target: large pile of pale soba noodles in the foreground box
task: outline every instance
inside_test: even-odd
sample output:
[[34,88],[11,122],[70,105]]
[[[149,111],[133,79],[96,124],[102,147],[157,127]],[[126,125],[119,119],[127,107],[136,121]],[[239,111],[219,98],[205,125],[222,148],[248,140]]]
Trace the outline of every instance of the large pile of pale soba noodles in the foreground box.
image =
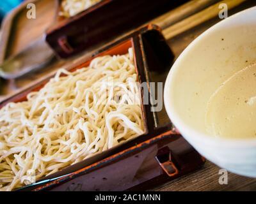
[[130,48],[129,54],[97,57],[72,73],[60,69],[28,101],[4,106],[0,191],[28,185],[143,134],[136,82]]

